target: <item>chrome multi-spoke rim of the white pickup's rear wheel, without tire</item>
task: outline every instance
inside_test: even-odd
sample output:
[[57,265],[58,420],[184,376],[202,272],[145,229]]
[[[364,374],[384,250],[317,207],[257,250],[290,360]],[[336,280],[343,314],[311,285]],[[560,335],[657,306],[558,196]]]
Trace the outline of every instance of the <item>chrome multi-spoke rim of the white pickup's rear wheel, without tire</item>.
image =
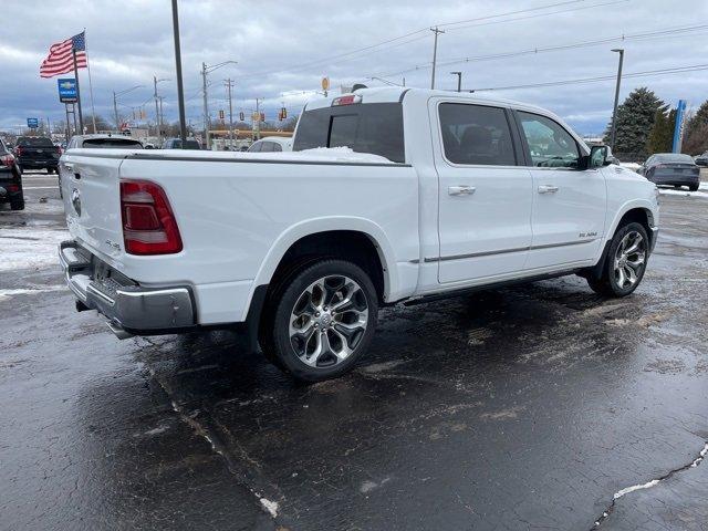
[[290,343],[311,367],[332,367],[360,344],[368,324],[368,302],[354,280],[332,274],[310,284],[290,314]]

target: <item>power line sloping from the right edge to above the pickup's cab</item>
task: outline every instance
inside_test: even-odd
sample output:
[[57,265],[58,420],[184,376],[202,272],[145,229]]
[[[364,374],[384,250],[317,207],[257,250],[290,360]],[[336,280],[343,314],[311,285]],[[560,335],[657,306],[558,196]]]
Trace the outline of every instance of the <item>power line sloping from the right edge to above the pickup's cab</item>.
[[[657,31],[649,31],[649,32],[642,32],[642,33],[633,33],[633,34],[623,34],[623,35],[618,35],[618,37],[610,37],[606,39],[596,39],[596,40],[592,40],[592,41],[581,41],[581,42],[575,42],[575,43],[571,43],[571,44],[561,44],[561,45],[555,45],[555,46],[542,46],[542,48],[532,48],[532,49],[525,49],[525,50],[518,50],[518,51],[513,51],[513,52],[504,52],[504,53],[494,53],[494,54],[490,54],[490,55],[476,55],[476,56],[469,56],[469,58],[459,58],[459,59],[452,59],[449,61],[442,61],[439,63],[440,66],[449,66],[452,64],[460,64],[460,63],[472,63],[472,62],[480,62],[480,61],[493,61],[493,60],[499,60],[499,59],[509,59],[509,58],[517,58],[517,56],[521,56],[521,55],[537,55],[539,53],[548,53],[548,52],[558,52],[558,51],[564,51],[564,50],[573,50],[573,49],[577,49],[577,48],[589,48],[589,46],[596,46],[596,45],[601,45],[601,44],[608,44],[611,42],[624,42],[624,41],[631,41],[631,40],[645,40],[645,39],[656,39],[656,38],[664,38],[664,37],[675,37],[677,34],[683,34],[683,33],[687,33],[687,32],[694,32],[694,31],[699,31],[699,30],[706,30],[708,29],[708,24],[698,24],[698,25],[689,25],[689,27],[679,27],[679,28],[671,28],[671,29],[666,29],[666,30],[657,30]],[[400,75],[400,74],[406,74],[408,72],[415,72],[418,70],[425,70],[425,69],[429,69],[430,67],[430,63],[423,63],[423,64],[418,64],[415,66],[412,66],[409,69],[406,70],[402,70],[402,71],[397,71],[397,72],[389,72],[386,74],[376,74],[377,76],[381,77],[392,77],[395,75]]]

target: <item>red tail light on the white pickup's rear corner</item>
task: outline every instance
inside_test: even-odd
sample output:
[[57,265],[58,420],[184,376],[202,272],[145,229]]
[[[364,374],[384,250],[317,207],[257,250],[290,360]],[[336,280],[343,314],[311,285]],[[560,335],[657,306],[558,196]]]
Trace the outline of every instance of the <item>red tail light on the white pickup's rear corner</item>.
[[177,220],[165,190],[147,180],[121,181],[123,241],[129,254],[181,251]]

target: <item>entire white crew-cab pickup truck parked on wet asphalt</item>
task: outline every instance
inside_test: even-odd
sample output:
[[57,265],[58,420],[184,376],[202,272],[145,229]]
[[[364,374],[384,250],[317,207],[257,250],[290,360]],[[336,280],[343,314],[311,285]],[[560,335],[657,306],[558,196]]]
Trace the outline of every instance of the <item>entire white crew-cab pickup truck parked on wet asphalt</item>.
[[396,302],[564,274],[632,293],[658,196],[605,155],[535,106],[362,88],[309,103],[293,153],[66,152],[60,260],[119,337],[242,325],[320,381]]

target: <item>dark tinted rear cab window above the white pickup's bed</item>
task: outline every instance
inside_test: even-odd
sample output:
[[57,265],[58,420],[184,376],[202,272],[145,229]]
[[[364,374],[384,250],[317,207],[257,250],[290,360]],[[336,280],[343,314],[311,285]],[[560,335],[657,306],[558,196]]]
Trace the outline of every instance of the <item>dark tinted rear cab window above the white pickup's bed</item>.
[[403,105],[357,103],[305,111],[292,150],[317,147],[348,147],[405,163]]

